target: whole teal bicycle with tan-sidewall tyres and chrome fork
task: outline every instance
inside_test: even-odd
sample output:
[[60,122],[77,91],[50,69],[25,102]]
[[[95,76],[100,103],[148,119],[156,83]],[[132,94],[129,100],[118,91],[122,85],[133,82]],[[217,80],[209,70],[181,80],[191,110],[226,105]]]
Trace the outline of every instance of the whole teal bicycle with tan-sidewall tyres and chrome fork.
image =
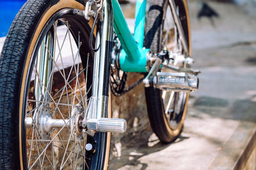
[[146,0],[136,2],[133,35],[117,0],[22,6],[0,58],[2,168],[107,169],[110,132],[126,130],[111,118],[109,89],[120,96],[142,81],[125,89],[127,72],[147,74],[158,138],[177,138],[198,89],[187,3],[152,0],[145,20]]

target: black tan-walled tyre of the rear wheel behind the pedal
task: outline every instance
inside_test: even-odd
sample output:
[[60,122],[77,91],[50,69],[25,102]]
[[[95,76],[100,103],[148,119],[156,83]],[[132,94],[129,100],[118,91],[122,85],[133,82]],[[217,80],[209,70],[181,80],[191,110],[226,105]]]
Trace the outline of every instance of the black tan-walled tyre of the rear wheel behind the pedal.
[[[179,5],[184,6],[184,8],[186,7],[186,4],[184,4],[183,1],[175,1],[175,3],[176,5],[179,3]],[[154,53],[160,52],[161,50],[161,30],[163,27],[164,10],[166,10],[167,5],[168,1],[166,0],[153,0],[151,1],[151,5],[148,10],[147,25],[145,31],[145,47],[150,48],[150,51]],[[188,17],[188,13],[186,13],[186,17]],[[186,39],[190,45],[189,18],[186,20],[186,22],[182,22],[182,27],[184,28]],[[148,118],[150,120],[152,130],[162,142],[170,143],[177,139],[180,132],[182,131],[184,122],[182,122],[182,125],[178,127],[178,131],[177,129],[173,130],[169,127],[169,125],[166,123],[168,120],[166,120],[164,115],[164,107],[160,95],[161,90],[159,89],[155,89],[154,87],[145,88]],[[183,117],[186,116],[188,95],[189,94],[187,94],[187,99],[184,103],[184,113],[182,113]]]

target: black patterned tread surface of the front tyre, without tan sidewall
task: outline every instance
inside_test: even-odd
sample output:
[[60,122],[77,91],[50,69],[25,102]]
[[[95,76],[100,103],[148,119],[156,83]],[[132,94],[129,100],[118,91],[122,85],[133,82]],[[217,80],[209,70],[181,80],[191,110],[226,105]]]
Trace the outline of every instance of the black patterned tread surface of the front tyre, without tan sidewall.
[[0,57],[0,167],[20,169],[19,89],[22,69],[37,21],[46,0],[27,1],[13,20]]

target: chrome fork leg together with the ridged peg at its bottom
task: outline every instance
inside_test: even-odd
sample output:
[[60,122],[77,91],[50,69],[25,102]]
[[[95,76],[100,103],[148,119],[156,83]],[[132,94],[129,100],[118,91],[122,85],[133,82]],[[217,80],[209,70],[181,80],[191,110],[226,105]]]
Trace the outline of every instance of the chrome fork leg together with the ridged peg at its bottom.
[[[89,132],[125,132],[126,120],[108,117],[109,74],[111,64],[113,9],[111,0],[104,0],[102,8],[102,27],[97,32],[95,45],[99,48],[95,52],[93,67],[92,97],[90,98],[83,128]],[[101,32],[101,34],[100,34]]]

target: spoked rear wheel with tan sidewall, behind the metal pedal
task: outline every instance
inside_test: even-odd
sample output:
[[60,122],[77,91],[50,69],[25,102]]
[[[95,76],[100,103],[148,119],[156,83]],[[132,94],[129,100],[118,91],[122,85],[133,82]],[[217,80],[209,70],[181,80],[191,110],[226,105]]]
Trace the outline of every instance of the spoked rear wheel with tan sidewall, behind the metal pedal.
[[[175,1],[175,5],[190,51],[189,16],[186,0]],[[183,53],[168,0],[153,0],[150,5],[145,46],[154,53],[160,52],[164,47],[167,48],[168,52]],[[162,68],[160,71],[166,72],[168,70]],[[174,141],[182,131],[189,93],[170,92],[147,87],[145,88],[145,96],[148,117],[154,133],[163,142]]]

